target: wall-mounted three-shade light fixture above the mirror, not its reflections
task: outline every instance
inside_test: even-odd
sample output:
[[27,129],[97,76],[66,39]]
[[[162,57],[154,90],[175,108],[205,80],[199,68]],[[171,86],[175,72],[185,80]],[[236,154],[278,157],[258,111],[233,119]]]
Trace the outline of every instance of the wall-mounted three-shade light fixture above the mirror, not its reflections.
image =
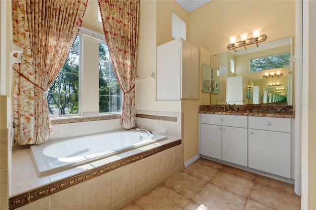
[[229,37],[230,43],[228,44],[227,48],[228,49],[233,49],[236,52],[236,49],[239,47],[244,47],[247,49],[247,45],[250,44],[256,44],[257,47],[259,46],[258,42],[264,41],[267,38],[267,35],[260,35],[261,29],[255,29],[252,31],[253,37],[247,38],[248,37],[248,32],[240,34],[240,41],[236,42],[236,35],[233,35]]

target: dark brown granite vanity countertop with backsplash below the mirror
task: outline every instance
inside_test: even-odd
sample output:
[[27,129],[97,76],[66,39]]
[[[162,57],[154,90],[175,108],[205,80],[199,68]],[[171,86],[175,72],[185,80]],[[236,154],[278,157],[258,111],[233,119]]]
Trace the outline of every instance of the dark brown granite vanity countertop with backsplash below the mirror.
[[292,105],[199,105],[199,113],[295,118]]

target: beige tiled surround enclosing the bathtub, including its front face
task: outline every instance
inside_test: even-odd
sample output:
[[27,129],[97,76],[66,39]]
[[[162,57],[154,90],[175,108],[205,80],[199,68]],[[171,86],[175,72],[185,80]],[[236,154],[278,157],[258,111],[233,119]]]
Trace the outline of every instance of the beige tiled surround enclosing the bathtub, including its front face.
[[[159,142],[160,145],[147,145],[141,153],[130,151],[44,177],[36,175],[29,148],[13,150],[10,209],[28,203],[20,209],[119,209],[181,171],[184,166],[183,144],[179,140],[181,113],[144,112],[137,114],[137,127],[151,125],[149,128],[155,133],[163,131],[162,135],[179,137],[168,137]],[[84,121],[82,126],[78,121],[53,123],[60,127],[55,127],[58,132],[54,132],[52,139],[60,135],[59,132],[73,132],[71,128],[98,130],[95,129],[97,122],[109,126],[104,130],[118,129],[115,125],[119,125],[120,119],[104,121]],[[164,123],[167,128],[163,128]],[[21,174],[28,178],[21,179]]]

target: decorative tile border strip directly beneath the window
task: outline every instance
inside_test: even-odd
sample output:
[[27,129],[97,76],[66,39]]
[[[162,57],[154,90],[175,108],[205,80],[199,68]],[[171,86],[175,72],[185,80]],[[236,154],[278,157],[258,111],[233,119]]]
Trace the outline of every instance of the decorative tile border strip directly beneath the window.
[[76,122],[88,122],[97,120],[114,120],[121,119],[121,114],[101,115],[94,117],[74,117],[74,118],[54,118],[51,119],[52,125],[65,124],[65,123],[76,123]]

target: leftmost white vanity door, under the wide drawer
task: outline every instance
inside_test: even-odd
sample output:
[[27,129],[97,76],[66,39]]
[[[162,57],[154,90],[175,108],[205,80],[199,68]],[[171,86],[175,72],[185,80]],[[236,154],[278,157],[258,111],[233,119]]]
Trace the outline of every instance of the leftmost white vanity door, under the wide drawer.
[[200,148],[201,154],[217,159],[222,159],[222,126],[201,125]]

